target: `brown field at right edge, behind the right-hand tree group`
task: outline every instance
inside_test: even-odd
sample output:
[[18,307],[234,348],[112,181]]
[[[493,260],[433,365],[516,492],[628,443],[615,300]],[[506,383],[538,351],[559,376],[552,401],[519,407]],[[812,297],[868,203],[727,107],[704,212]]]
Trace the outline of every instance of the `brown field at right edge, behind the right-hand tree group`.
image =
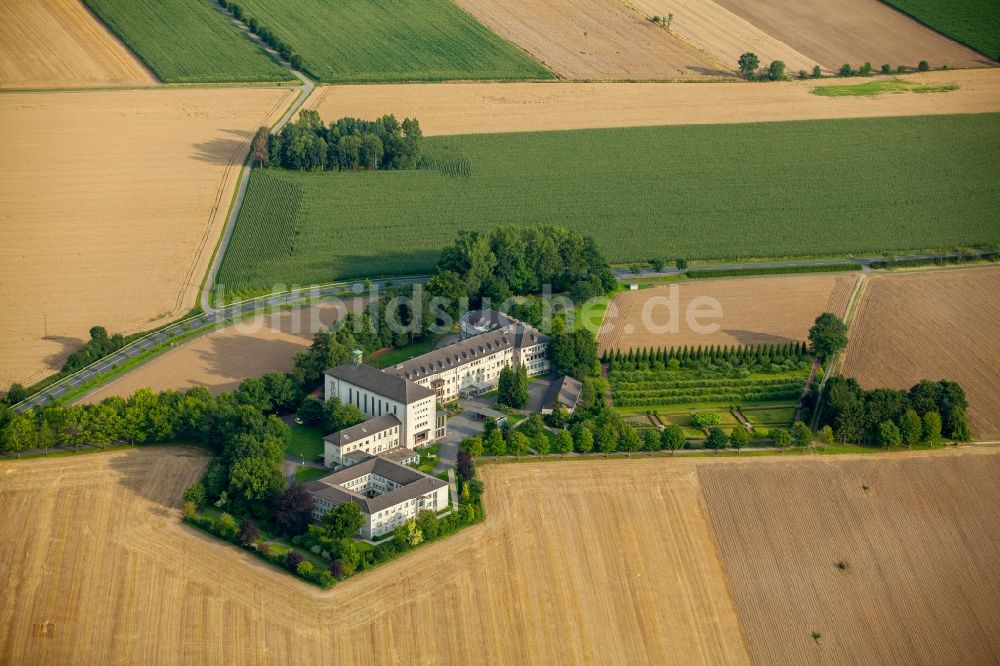
[[1000,268],[873,276],[851,322],[843,373],[865,388],[960,383],[976,439],[1000,439]]

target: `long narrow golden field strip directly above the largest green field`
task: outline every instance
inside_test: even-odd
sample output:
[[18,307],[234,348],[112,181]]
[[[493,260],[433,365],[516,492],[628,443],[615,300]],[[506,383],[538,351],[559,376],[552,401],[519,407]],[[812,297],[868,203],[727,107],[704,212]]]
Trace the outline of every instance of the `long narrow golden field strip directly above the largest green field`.
[[1000,68],[909,74],[947,93],[821,97],[829,80],[731,83],[429,83],[325,86],[306,102],[325,119],[418,118],[427,136],[750,123],[1000,111]]

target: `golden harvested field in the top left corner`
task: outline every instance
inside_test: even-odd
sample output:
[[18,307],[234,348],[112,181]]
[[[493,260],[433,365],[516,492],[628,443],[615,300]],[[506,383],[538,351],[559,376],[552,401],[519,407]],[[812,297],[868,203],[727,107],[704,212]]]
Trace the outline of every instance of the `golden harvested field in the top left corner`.
[[80,0],[0,2],[0,88],[152,85],[149,70]]

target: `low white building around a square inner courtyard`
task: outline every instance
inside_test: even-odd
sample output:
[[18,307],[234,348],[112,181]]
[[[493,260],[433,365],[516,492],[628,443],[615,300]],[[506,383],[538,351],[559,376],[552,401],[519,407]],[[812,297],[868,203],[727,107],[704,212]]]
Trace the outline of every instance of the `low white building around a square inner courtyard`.
[[448,484],[382,457],[370,458],[330,476],[307,483],[313,497],[313,518],[344,502],[361,508],[366,539],[392,532],[421,511],[435,513],[448,507]]

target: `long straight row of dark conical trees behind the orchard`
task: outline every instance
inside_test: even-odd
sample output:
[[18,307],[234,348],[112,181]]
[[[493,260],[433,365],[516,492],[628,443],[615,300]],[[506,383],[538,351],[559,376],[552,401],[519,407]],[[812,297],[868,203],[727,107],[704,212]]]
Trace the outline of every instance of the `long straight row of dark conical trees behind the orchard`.
[[[809,350],[804,342],[783,345],[708,345],[702,347],[645,347],[627,352],[605,351],[601,361],[608,364],[609,372],[622,370],[669,370],[690,367],[718,366],[759,370],[771,366],[794,366],[809,360]],[[781,369],[781,368],[777,368]]]

